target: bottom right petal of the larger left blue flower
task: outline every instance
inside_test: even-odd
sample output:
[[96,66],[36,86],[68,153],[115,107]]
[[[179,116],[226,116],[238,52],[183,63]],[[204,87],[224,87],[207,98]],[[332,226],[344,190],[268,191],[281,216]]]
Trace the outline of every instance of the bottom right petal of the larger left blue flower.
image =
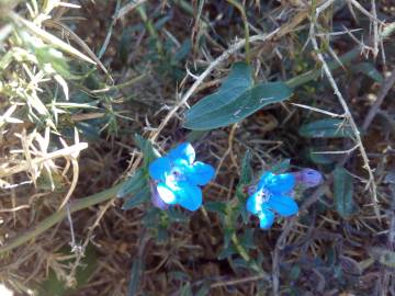
[[180,182],[176,191],[177,203],[189,210],[196,210],[202,205],[202,191],[200,187]]

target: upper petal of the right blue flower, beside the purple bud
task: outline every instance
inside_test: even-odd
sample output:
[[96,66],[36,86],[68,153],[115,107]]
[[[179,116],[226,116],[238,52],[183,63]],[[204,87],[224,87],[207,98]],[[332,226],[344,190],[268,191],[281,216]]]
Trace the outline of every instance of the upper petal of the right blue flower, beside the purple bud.
[[273,194],[287,193],[295,186],[295,177],[291,173],[267,172],[262,175],[258,186],[264,187]]

